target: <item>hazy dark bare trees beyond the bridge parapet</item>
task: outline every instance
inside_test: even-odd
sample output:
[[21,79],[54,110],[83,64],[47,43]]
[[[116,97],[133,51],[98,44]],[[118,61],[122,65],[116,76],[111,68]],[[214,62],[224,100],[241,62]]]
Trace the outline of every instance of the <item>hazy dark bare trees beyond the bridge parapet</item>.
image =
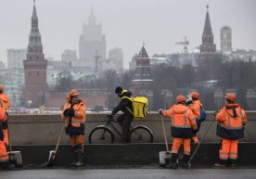
[[[157,110],[164,107],[166,98],[162,94],[163,89],[172,90],[173,92],[173,98],[168,98],[168,100],[171,100],[169,101],[170,105],[173,104],[175,96],[179,94],[186,95],[191,90],[198,90],[200,100],[208,110],[220,108],[216,104],[216,99],[214,99],[214,94],[217,90],[223,92],[224,95],[228,90],[235,90],[237,102],[244,109],[251,109],[252,106],[248,105],[246,93],[248,89],[254,89],[256,87],[256,63],[252,61],[232,60],[220,63],[212,68],[215,68],[214,71],[216,71],[216,74],[206,82],[198,82],[198,69],[191,65],[185,65],[183,67],[174,67],[167,64],[152,66],[151,72],[154,81],[148,86],[148,89],[154,93],[154,102],[151,109]],[[133,77],[134,71],[131,70],[126,71],[124,74],[117,73],[115,70],[108,70],[97,78],[89,76],[74,81],[70,72],[66,70],[59,74],[58,85],[56,87],[58,90],[103,88],[113,91],[116,86],[121,85],[123,88],[129,89]],[[109,104],[114,102],[112,98],[114,96],[109,96]]]

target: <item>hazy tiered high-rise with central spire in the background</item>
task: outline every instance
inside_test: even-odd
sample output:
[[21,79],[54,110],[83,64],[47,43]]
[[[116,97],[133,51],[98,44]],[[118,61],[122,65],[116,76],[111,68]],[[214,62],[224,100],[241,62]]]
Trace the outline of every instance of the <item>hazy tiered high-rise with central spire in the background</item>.
[[100,60],[106,59],[106,39],[102,26],[96,23],[93,8],[88,23],[83,23],[83,33],[80,35],[78,67],[87,67],[91,72],[98,70]]

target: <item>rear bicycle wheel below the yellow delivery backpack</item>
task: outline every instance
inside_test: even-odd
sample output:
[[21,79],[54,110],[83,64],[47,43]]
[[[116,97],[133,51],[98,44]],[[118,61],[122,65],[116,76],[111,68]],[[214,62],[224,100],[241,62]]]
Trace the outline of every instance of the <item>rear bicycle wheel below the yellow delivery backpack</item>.
[[152,143],[153,140],[153,133],[144,125],[135,126],[130,132],[131,143]]

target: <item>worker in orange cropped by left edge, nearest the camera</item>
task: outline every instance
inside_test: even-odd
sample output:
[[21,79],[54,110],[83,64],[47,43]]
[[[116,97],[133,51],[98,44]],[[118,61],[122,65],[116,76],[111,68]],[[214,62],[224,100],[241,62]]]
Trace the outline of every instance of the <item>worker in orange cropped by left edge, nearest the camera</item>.
[[0,108],[0,168],[7,170],[10,166],[9,157],[6,151],[6,144],[4,142],[3,123],[6,121],[6,112]]

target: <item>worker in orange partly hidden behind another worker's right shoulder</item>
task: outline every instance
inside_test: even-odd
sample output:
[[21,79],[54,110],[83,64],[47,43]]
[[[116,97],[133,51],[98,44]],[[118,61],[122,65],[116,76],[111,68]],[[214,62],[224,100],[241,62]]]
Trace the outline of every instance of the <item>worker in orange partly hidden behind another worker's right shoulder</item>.
[[[201,119],[200,119],[200,109],[202,107],[202,104],[199,100],[199,94],[198,92],[192,92],[190,93],[191,96],[191,101],[187,101],[186,105],[188,106],[189,109],[192,110],[193,114],[196,117],[196,121],[197,121],[197,125],[198,125],[198,131],[200,130],[200,126],[201,126]],[[197,134],[195,134],[192,137],[192,141],[194,143],[198,143],[198,136]]]

